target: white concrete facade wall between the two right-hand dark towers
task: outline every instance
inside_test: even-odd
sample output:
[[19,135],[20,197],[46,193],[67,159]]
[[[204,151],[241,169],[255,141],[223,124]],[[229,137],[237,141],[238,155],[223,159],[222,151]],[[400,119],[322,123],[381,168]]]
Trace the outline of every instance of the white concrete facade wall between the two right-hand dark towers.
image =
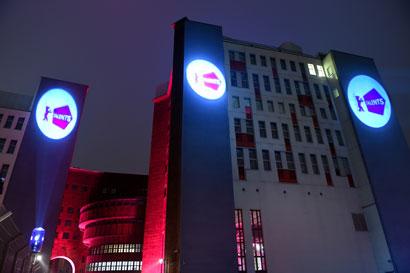
[[[233,186],[235,194],[235,206],[243,212],[244,236],[246,249],[246,271],[248,273],[263,272],[255,270],[253,259],[253,241],[250,210],[260,210],[263,226],[264,250],[266,256],[266,271],[278,273],[376,273],[389,272],[389,253],[387,251],[384,236],[380,236],[380,223],[377,211],[365,212],[365,203],[370,202],[372,197],[368,191],[368,181],[363,180],[363,174],[357,174],[355,170],[356,159],[352,160],[350,144],[343,131],[334,102],[328,79],[318,76],[317,66],[322,66],[320,57],[309,56],[302,52],[290,52],[284,48],[273,48],[247,42],[225,39],[225,75],[227,82],[227,94],[229,96],[229,122],[231,138],[231,156],[233,171]],[[289,49],[289,47],[288,47]],[[297,48],[296,48],[297,49]],[[244,53],[248,88],[241,87],[241,77],[237,73],[238,86],[232,85],[230,55],[238,52]],[[251,54],[256,57],[256,64],[251,63]],[[266,66],[261,63],[261,57],[266,58]],[[236,58],[236,57],[235,57]],[[274,58],[277,66],[278,77],[281,84],[281,93],[276,92],[273,80],[270,58]],[[286,69],[281,68],[281,60],[286,63]],[[290,61],[296,65],[296,71],[290,68]],[[298,95],[295,90],[295,81],[299,81],[301,94],[306,95],[302,84],[306,81],[302,78],[300,64],[306,70],[307,81],[310,85],[311,98],[317,115],[318,124],[323,138],[323,144],[319,143],[315,134],[314,124],[309,109],[306,115],[299,108]],[[308,64],[313,64],[316,75],[310,75]],[[256,105],[256,96],[252,74],[259,76],[260,97],[263,110]],[[263,76],[268,76],[270,89],[264,88]],[[289,79],[291,94],[287,94],[285,79]],[[319,86],[321,96],[317,96],[314,84]],[[324,88],[328,87],[332,104],[336,111],[333,119],[329,103],[326,99]],[[239,98],[239,107],[238,99]],[[254,143],[258,168],[252,169],[248,147],[238,146],[235,132],[235,118],[241,119],[241,132],[246,132],[247,99],[251,100],[252,121],[254,128]],[[268,101],[272,101],[274,111],[269,111]],[[285,111],[280,112],[280,103],[283,103]],[[289,104],[295,105],[297,123],[300,128],[301,141],[295,138],[294,127],[290,114]],[[258,110],[259,108],[259,110]],[[320,109],[324,110],[320,110]],[[321,115],[326,112],[326,117]],[[249,117],[249,116],[248,116]],[[261,136],[259,121],[265,122],[266,137]],[[277,124],[278,139],[271,135],[270,123]],[[297,183],[280,182],[275,164],[275,151],[284,152],[286,145],[282,124],[289,128],[291,153],[293,154],[294,169]],[[312,142],[308,142],[304,127],[310,128]],[[316,126],[317,127],[317,126]],[[344,157],[350,162],[350,171],[339,167],[336,173],[325,130],[330,130],[333,136],[333,145],[337,157]],[[339,142],[336,131],[341,132],[343,142]],[[346,137],[345,137],[346,136]],[[243,149],[244,169],[246,179],[240,179],[237,164],[237,148]],[[252,148],[251,148],[252,149]],[[262,150],[269,151],[270,170],[264,169]],[[298,154],[304,153],[307,165],[307,173],[301,169]],[[316,155],[318,174],[314,172],[311,154]],[[326,155],[330,176],[333,185],[328,185],[324,165],[321,156]],[[287,168],[286,158],[282,154],[283,168]],[[342,164],[338,161],[339,164]],[[352,162],[354,164],[352,164]],[[255,166],[253,166],[255,167]],[[340,171],[342,169],[342,171]],[[351,174],[354,187],[348,182],[347,174]],[[363,197],[363,196],[367,197]],[[364,201],[366,199],[366,201]],[[352,214],[365,215],[368,230],[355,228]],[[373,232],[377,230],[377,232]],[[378,239],[375,239],[375,236]],[[380,243],[380,246],[377,244]],[[382,253],[382,254],[381,254]]]

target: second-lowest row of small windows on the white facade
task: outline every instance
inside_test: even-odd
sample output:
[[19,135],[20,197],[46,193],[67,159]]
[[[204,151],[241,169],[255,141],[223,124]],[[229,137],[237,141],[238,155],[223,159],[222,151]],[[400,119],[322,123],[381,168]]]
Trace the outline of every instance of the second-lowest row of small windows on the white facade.
[[[242,121],[245,121],[245,132],[250,135],[254,135],[254,127],[253,127],[253,120],[250,119],[240,119],[240,118],[234,118],[234,128],[235,128],[235,133],[240,134],[243,132],[242,130]],[[278,125],[276,122],[270,122],[270,136],[273,139],[279,139],[279,131],[278,131]],[[282,133],[283,133],[283,138],[284,139],[290,139],[290,133],[289,133],[289,125],[287,123],[282,123]],[[259,120],[258,121],[258,127],[259,127],[259,137],[260,138],[267,138],[268,133],[267,133],[267,126],[266,122]],[[306,142],[308,143],[313,143],[313,136],[312,136],[312,130],[310,126],[303,126],[303,132],[305,135]],[[302,134],[301,134],[301,128],[299,125],[293,125],[293,133],[295,136],[295,140],[297,142],[302,142]],[[314,133],[316,135],[316,140],[317,143],[319,144],[324,144],[323,141],[323,136],[322,136],[322,130],[320,128],[314,128]],[[329,144],[333,144],[333,134],[330,129],[325,129],[325,134],[327,138],[327,142]],[[344,146],[344,140],[342,137],[342,132],[340,130],[335,130],[335,135],[336,135],[336,140],[339,146]]]

